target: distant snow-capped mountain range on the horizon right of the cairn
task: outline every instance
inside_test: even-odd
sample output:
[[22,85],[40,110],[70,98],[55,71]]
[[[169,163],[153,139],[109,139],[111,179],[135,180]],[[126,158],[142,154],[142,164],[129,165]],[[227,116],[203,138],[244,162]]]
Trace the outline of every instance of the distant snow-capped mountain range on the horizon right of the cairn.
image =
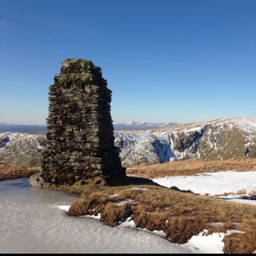
[[170,125],[174,125],[177,123],[174,122],[157,122],[157,123],[151,123],[151,122],[127,122],[127,123],[117,123],[114,124],[114,130],[115,131],[122,131],[122,130],[148,130],[148,129],[157,129],[162,127],[167,127]]

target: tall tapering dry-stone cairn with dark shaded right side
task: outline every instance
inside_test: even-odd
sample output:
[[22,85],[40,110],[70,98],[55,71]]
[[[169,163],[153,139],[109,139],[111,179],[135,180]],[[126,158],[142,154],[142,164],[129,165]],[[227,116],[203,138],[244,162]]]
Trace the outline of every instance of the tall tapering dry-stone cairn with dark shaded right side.
[[49,90],[42,183],[113,183],[125,177],[114,146],[111,93],[101,69],[86,59],[65,59]]

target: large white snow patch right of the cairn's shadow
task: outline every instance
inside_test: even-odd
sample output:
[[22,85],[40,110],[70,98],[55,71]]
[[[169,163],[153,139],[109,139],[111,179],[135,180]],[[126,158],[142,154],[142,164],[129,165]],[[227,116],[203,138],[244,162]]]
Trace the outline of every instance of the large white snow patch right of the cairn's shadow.
[[[181,190],[191,190],[200,195],[223,195],[220,198],[239,203],[256,204],[255,200],[246,200],[240,197],[256,190],[256,172],[236,172],[234,170],[216,173],[197,174],[196,176],[177,176],[152,179],[154,182],[166,186],[176,186]],[[245,190],[245,195],[236,194]]]

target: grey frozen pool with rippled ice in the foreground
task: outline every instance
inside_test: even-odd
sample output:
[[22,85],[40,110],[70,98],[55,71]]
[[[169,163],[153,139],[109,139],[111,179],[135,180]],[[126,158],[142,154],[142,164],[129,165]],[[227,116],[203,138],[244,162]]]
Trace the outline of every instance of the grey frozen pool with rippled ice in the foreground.
[[56,207],[75,199],[32,187],[28,179],[1,181],[0,253],[191,253],[156,234],[71,217]]

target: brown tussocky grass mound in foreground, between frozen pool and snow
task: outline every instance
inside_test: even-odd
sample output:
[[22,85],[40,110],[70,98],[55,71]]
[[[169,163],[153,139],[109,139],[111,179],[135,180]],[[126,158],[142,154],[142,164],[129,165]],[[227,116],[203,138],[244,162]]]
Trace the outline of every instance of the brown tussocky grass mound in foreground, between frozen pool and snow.
[[[148,190],[133,189],[136,187]],[[67,189],[74,191],[72,187]],[[75,190],[78,191],[78,186]],[[179,244],[186,243],[203,229],[207,229],[208,233],[237,229],[245,233],[225,236],[224,252],[251,253],[256,249],[256,211],[253,205],[150,185],[85,185],[80,193],[83,195],[72,204],[69,215],[101,213],[100,220],[111,226],[117,226],[131,216],[137,227],[163,230],[168,241]],[[117,196],[109,197],[115,194]],[[128,199],[133,201],[117,205],[119,201]],[[215,227],[211,225],[214,222],[223,224]]]

